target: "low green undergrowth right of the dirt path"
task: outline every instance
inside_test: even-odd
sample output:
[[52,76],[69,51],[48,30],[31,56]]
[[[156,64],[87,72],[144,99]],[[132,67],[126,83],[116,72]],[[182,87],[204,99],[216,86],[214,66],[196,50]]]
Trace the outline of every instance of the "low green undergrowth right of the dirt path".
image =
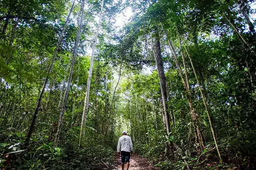
[[[160,170],[187,170],[188,166],[191,170],[254,170],[256,168],[254,151],[245,149],[253,144],[249,140],[238,140],[234,136],[221,141],[223,144],[219,147],[224,160],[221,163],[214,143],[208,142],[205,148],[200,148],[197,144],[184,145],[182,140],[178,142],[175,135],[161,134],[164,134],[163,131],[152,130],[149,143],[138,141],[134,145],[135,152],[144,156]],[[252,136],[250,140],[253,141]]]

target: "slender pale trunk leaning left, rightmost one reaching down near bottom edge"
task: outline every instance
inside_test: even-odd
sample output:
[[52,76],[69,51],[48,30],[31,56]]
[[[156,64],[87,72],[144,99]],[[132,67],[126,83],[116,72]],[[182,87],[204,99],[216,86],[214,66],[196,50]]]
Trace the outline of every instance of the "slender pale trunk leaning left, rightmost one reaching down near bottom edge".
[[191,63],[191,66],[193,68],[193,71],[194,71],[194,74],[195,74],[195,77],[197,79],[197,84],[198,84],[198,87],[199,87],[199,90],[201,92],[201,96],[202,96],[202,99],[203,99],[203,103],[204,103],[204,106],[205,106],[205,110],[206,110],[206,113],[207,113],[207,116],[208,116],[208,119],[209,119],[209,123],[210,123],[210,127],[211,127],[211,130],[212,130],[212,134],[213,134],[213,138],[214,138],[214,142],[215,142],[215,145],[216,145],[216,149],[217,149],[217,153],[218,153],[218,156],[219,156],[219,159],[220,159],[220,162],[222,162],[222,158],[221,158],[221,154],[220,154],[220,151],[219,151],[219,147],[218,147],[218,144],[217,144],[217,139],[216,139],[216,136],[215,136],[215,132],[214,132],[214,128],[213,128],[213,123],[212,123],[212,119],[211,119],[211,115],[210,115],[210,109],[208,108],[208,105],[207,105],[207,101],[204,97],[204,94],[203,94],[203,90],[200,86],[200,82],[199,82],[199,79],[197,77],[197,73],[196,73],[196,69],[194,67],[194,64],[193,64],[193,61],[190,57],[190,54],[187,50],[187,48],[185,47],[185,50],[188,54],[188,57],[189,57],[189,60],[190,60],[190,63]]

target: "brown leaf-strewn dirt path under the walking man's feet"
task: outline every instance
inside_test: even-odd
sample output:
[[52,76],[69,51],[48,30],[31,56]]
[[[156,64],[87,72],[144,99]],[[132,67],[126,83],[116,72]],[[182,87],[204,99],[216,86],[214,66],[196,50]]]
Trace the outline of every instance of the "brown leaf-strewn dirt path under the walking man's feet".
[[[124,170],[126,170],[126,165],[124,165]],[[115,169],[114,170],[122,170],[121,167],[121,156],[116,154],[115,160]],[[148,161],[137,154],[133,154],[129,170],[158,170],[156,167],[151,165]]]

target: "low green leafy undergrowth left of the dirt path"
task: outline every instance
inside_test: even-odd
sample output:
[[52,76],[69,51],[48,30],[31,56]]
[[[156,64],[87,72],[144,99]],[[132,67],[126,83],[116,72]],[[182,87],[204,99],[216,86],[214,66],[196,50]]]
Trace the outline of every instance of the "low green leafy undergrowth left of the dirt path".
[[[114,150],[108,143],[87,140],[79,147],[76,130],[67,132],[58,147],[47,137],[35,136],[27,150],[22,149],[25,135],[0,135],[0,168],[3,170],[100,170],[103,162],[114,166]],[[89,134],[88,134],[89,135]],[[71,142],[72,141],[72,142]]]

